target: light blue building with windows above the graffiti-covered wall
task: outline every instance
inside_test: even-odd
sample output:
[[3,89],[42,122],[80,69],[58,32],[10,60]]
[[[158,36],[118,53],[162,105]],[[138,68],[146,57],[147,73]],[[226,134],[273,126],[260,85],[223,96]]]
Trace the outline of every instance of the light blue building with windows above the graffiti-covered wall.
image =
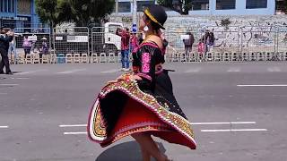
[[[132,0],[117,0],[119,14],[131,14]],[[174,0],[175,2],[177,0]],[[189,14],[199,15],[274,15],[276,0],[193,0]],[[155,4],[156,0],[137,0],[137,10]],[[169,14],[178,14],[168,11]]]

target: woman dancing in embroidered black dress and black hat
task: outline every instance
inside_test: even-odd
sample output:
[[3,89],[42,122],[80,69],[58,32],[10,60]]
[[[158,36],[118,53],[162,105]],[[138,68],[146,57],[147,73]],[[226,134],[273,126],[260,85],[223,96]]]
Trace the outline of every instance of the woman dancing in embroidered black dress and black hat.
[[100,90],[91,109],[88,133],[101,147],[131,135],[140,145],[143,161],[154,157],[168,161],[152,135],[195,149],[194,133],[173,96],[164,64],[164,43],[160,37],[167,14],[160,5],[143,11],[139,30],[143,43],[133,52],[133,72],[109,81]]

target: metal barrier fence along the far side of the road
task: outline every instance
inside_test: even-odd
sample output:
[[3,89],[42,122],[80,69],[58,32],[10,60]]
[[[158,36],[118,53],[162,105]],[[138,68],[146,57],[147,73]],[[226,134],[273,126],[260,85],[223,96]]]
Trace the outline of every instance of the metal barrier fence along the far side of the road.
[[[109,27],[16,28],[16,44],[22,50],[23,37],[29,37],[37,53],[41,39],[48,39],[51,56],[49,63],[104,63],[119,62],[121,38],[116,35],[121,25]],[[221,61],[283,61],[287,59],[287,26],[194,26],[168,28],[164,31],[169,41],[167,62]],[[191,51],[186,52],[183,39],[194,36]],[[213,33],[210,45],[205,37]],[[204,52],[198,44],[204,42]],[[84,58],[82,57],[84,56]],[[79,58],[81,57],[81,58]],[[61,58],[61,59],[59,59]],[[64,61],[61,61],[64,59]],[[74,60],[77,61],[74,61]],[[81,59],[79,61],[79,59]]]

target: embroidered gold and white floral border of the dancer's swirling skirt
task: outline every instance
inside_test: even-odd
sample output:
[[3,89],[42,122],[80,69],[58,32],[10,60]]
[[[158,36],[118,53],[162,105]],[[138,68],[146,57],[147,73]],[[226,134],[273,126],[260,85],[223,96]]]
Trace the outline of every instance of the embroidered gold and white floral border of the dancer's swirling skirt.
[[[126,73],[123,75],[123,77],[125,75],[129,75],[129,74],[131,74],[131,73]],[[114,90],[120,90],[120,91],[126,93],[126,95],[128,95],[129,97],[132,97],[133,99],[135,99],[139,103],[143,104],[143,106],[146,106],[154,114],[157,114],[159,116],[159,118],[161,118],[161,120],[164,123],[168,123],[168,125],[170,127],[174,128],[175,130],[180,132],[188,140],[192,140],[192,142],[196,146],[196,141],[194,140],[194,131],[191,128],[190,123],[188,123],[188,121],[185,118],[183,118],[182,116],[180,116],[179,114],[170,112],[168,105],[159,104],[159,102],[157,102],[155,97],[152,97],[152,95],[149,95],[149,94],[141,91],[139,89],[137,83],[136,83],[136,80],[129,80],[129,81],[121,80],[121,81],[117,81],[115,83],[109,83],[107,86],[105,86],[103,89],[101,89],[98,98],[106,97],[110,92],[112,92]],[[135,131],[151,131],[151,130],[152,131],[156,131],[156,130],[167,131],[168,130],[168,129],[163,128],[162,126],[153,126],[153,127],[148,126],[149,128],[147,128],[147,129],[144,127],[139,128],[137,130],[131,129],[131,130],[127,130],[123,133],[119,133],[115,136],[107,138],[107,133],[105,131],[105,127],[102,127],[104,125],[104,123],[102,123],[103,118],[101,118],[99,105],[100,105],[100,103],[98,102],[98,105],[95,105],[93,107],[96,109],[92,109],[92,110],[95,110],[95,113],[93,115],[91,115],[91,118],[90,118],[91,126],[90,126],[90,128],[92,128],[92,131],[93,131],[92,134],[93,135],[100,137],[100,140],[95,140],[95,141],[100,142],[103,146],[107,146],[107,145],[111,144],[112,142],[115,142],[116,140],[119,140],[120,138],[122,138],[126,135],[134,133]],[[91,135],[91,133],[90,133],[90,135]]]

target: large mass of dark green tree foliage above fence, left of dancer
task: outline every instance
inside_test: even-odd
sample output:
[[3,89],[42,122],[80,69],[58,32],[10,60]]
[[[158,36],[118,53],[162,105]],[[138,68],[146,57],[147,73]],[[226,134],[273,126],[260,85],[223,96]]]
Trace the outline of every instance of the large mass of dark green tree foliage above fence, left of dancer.
[[111,13],[114,5],[114,0],[36,0],[36,11],[43,22],[74,21],[88,26]]

